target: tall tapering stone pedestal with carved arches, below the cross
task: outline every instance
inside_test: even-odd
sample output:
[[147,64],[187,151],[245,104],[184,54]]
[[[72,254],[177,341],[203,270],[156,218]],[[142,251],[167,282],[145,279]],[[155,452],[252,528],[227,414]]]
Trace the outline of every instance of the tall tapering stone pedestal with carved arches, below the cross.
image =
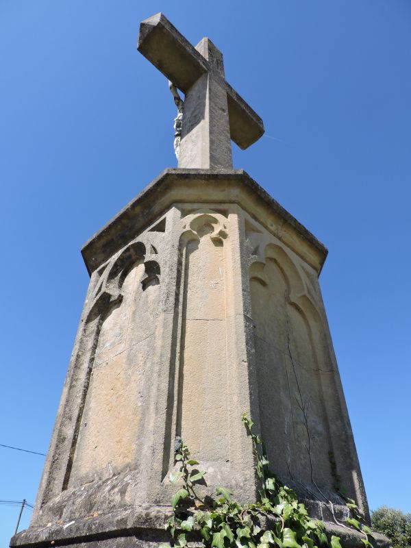
[[208,471],[203,493],[255,500],[242,412],[312,515],[331,523],[331,501],[347,517],[330,455],[368,514],[319,288],[327,250],[247,173],[166,170],[82,253],[90,286],[32,525],[12,546],[164,541],[176,436]]

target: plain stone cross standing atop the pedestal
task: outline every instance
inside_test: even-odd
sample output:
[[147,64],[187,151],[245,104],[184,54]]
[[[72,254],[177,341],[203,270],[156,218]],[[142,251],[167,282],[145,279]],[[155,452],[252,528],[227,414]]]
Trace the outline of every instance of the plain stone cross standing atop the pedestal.
[[247,149],[264,125],[225,80],[221,51],[193,47],[161,13],[142,21],[137,49],[186,96],[178,167],[232,169],[230,139]]

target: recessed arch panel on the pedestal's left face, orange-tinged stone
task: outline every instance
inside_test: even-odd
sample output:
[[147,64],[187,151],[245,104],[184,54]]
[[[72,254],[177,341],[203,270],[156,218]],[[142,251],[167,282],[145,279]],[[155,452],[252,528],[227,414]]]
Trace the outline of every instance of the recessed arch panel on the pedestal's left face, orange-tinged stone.
[[125,247],[101,273],[92,297],[84,333],[91,344],[88,377],[65,488],[135,466],[160,314],[160,264],[146,257],[140,241]]

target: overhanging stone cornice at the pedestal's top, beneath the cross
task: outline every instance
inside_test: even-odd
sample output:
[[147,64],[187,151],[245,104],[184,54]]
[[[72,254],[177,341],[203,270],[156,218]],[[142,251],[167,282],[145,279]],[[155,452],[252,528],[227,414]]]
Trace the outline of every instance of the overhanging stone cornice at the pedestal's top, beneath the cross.
[[[192,182],[192,184],[190,184]],[[88,273],[99,268],[113,253],[138,236],[158,219],[173,203],[238,203],[252,214],[251,201],[255,207],[264,208],[259,216],[264,223],[269,214],[280,222],[279,238],[287,239],[287,230],[292,232],[285,241],[291,249],[295,238],[303,240],[310,248],[309,264],[317,271],[327,257],[327,248],[303,227],[288,211],[269,195],[242,169],[165,169],[136,198],[130,201],[119,214],[92,236],[82,248],[82,256]],[[269,229],[271,229],[269,227]]]

